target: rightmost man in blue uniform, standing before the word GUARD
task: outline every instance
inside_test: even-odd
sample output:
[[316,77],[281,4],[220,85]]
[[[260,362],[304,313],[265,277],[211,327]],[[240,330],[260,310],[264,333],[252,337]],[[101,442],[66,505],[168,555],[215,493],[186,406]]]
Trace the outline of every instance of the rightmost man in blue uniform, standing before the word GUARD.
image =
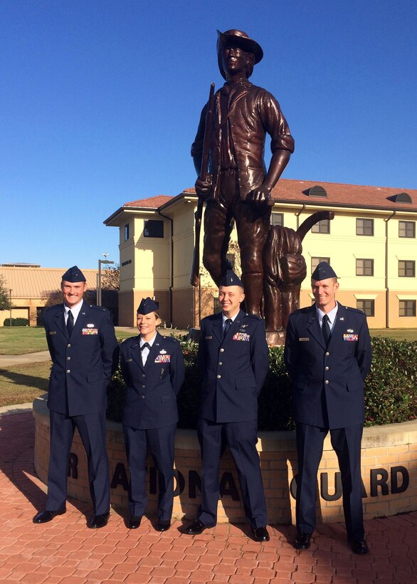
[[371,367],[366,316],[335,300],[333,268],[321,262],[312,273],[315,304],[290,315],[285,364],[292,379],[297,430],[297,537],[310,547],[316,521],[316,481],[324,437],[330,432],[342,478],[347,536],[354,553],[367,553],[361,501],[361,437],[364,380]]

